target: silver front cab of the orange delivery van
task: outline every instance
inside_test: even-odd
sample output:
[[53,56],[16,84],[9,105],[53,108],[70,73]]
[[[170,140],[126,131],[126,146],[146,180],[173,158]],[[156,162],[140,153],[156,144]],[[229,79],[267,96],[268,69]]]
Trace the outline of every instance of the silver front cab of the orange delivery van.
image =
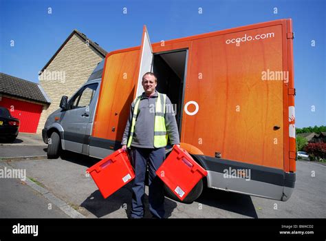
[[[48,144],[47,158],[58,158],[60,149],[89,156],[89,137],[104,63],[105,59],[98,63],[87,82],[69,100],[62,96],[60,108],[48,116],[42,130],[43,141]],[[109,150],[93,151],[93,156],[104,158],[109,153]]]

